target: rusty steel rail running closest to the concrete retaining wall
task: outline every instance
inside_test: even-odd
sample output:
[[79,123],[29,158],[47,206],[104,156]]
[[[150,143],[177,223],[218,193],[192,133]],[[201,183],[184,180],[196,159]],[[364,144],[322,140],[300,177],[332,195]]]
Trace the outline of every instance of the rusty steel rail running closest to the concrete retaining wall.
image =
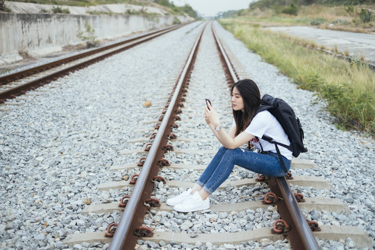
[[174,25],[174,26],[169,26],[167,28],[161,28],[161,29],[158,29],[156,31],[151,31],[151,32],[148,32],[148,33],[142,33],[142,34],[136,35],[132,38],[127,38],[125,40],[122,40],[121,42],[115,42],[113,44],[109,44],[109,45],[106,45],[106,46],[103,46],[103,47],[90,49],[89,51],[85,51],[83,53],[78,53],[74,56],[68,56],[66,58],[61,58],[61,59],[55,60],[51,63],[45,63],[43,65],[31,67],[29,69],[22,70],[21,72],[15,72],[15,73],[12,73],[12,74],[7,74],[5,76],[0,77],[0,85],[8,83],[8,82],[12,81],[13,79],[18,80],[18,79],[24,78],[26,76],[30,76],[32,74],[42,72],[44,70],[51,69],[52,67],[57,67],[57,66],[63,65],[64,63],[69,63],[69,62],[72,62],[74,60],[78,60],[78,59],[81,59],[81,58],[84,58],[84,57],[87,57],[87,56],[91,56],[94,53],[99,53],[101,51],[113,49],[115,47],[121,46],[121,45],[126,44],[128,42],[133,42],[135,40],[147,37],[148,35],[154,35],[156,33],[163,33],[165,31],[167,31],[167,32],[173,31],[174,29],[179,28],[180,26],[182,26],[182,25]]

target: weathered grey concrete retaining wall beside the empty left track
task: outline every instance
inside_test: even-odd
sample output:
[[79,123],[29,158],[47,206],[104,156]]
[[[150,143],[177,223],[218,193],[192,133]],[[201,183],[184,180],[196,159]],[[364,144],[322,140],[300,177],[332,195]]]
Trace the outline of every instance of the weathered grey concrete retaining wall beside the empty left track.
[[[188,22],[190,17],[178,17]],[[42,56],[83,42],[78,33],[85,23],[94,28],[97,40],[172,25],[173,16],[0,14],[0,64],[22,60],[20,54]]]

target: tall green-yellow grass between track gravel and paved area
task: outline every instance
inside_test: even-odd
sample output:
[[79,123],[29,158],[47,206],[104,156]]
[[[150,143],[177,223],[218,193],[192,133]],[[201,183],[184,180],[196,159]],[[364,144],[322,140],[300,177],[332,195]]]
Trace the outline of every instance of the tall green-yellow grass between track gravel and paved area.
[[301,44],[286,35],[249,25],[242,18],[220,22],[299,88],[316,92],[336,117],[338,127],[375,135],[375,74],[368,65],[360,60],[349,63],[335,58],[318,51],[314,44]]

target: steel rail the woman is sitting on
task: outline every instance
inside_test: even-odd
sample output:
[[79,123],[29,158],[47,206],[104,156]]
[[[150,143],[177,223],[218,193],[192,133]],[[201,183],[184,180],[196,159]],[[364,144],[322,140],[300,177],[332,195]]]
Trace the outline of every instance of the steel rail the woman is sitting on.
[[[239,80],[235,69],[232,67],[231,60],[229,60],[226,52],[220,42],[215,27],[211,26],[215,40],[217,42],[217,47],[222,51],[223,64],[224,67],[228,68],[228,74],[231,76],[233,83]],[[290,190],[289,184],[287,183],[285,176],[278,178],[271,178],[269,180],[269,186],[275,192],[276,195],[281,195],[283,199],[278,201],[277,206],[279,213],[285,221],[289,223],[291,227],[288,231],[288,238],[293,249],[306,249],[306,250],[315,250],[319,249],[317,241],[314,238],[313,232],[310,229],[310,226],[306,222],[303,213],[299,209],[298,202],[295,199],[292,191]]]

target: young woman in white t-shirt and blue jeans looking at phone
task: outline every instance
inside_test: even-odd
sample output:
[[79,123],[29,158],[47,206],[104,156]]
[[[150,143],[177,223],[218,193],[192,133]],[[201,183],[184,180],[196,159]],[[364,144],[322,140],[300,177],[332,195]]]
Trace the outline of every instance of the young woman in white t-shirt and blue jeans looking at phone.
[[[274,144],[258,139],[265,134],[276,142],[290,145],[288,135],[271,113],[265,110],[254,116],[261,103],[258,86],[252,80],[244,79],[233,85],[231,94],[234,119],[228,133],[222,128],[215,108],[207,101],[203,116],[223,147],[217,151],[192,188],[177,197],[167,199],[167,205],[174,206],[174,210],[178,212],[187,213],[210,208],[208,197],[226,181],[235,165],[267,176],[285,175]],[[249,141],[257,149],[263,148],[264,153],[240,148]],[[284,147],[279,149],[285,166],[290,169],[292,152]]]

